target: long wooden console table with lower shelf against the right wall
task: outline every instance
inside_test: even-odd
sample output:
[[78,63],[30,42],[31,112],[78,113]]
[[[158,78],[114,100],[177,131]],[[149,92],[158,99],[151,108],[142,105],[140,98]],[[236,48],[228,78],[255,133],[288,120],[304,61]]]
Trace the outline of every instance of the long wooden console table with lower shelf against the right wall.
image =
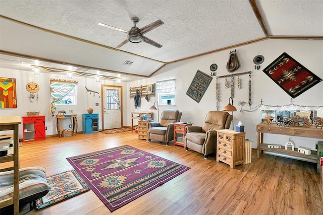
[[264,144],[263,134],[272,133],[272,134],[281,134],[281,135],[290,135],[290,136],[303,136],[310,138],[319,138],[323,139],[323,130],[315,127],[303,127],[303,126],[278,126],[276,124],[257,124],[257,158],[260,157],[260,153],[263,151],[269,152],[268,154],[281,156],[285,158],[292,158],[301,161],[307,161],[312,163],[317,163],[317,155],[315,151],[311,151],[311,155],[305,155],[297,152],[295,148],[294,151],[284,149],[272,149],[268,148],[270,144]]

